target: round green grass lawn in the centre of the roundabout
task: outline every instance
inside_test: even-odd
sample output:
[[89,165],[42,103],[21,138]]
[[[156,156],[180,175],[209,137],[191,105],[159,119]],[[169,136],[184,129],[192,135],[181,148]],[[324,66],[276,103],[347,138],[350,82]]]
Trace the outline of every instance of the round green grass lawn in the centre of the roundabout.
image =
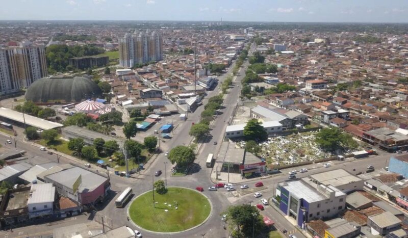
[[[135,199],[129,209],[130,218],[146,230],[158,232],[186,230],[203,222],[211,211],[208,199],[199,192],[189,189],[168,188],[168,192],[163,195],[155,192],[155,201],[158,202],[156,207],[153,206],[150,191]],[[168,204],[164,204],[166,202]]]

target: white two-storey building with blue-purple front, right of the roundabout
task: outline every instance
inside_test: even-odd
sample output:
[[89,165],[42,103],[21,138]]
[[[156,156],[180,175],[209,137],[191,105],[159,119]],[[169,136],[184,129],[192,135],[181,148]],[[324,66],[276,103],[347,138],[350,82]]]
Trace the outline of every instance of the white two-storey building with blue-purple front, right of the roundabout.
[[304,180],[279,183],[276,196],[280,198],[279,208],[301,228],[311,220],[334,217],[346,208],[345,193],[331,185]]

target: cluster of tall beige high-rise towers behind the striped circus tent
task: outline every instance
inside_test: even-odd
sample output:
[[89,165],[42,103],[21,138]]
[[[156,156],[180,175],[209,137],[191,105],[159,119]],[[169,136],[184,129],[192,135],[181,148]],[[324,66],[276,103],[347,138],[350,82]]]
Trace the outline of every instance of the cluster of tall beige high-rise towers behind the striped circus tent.
[[133,67],[163,60],[163,39],[156,31],[126,33],[119,38],[119,65]]

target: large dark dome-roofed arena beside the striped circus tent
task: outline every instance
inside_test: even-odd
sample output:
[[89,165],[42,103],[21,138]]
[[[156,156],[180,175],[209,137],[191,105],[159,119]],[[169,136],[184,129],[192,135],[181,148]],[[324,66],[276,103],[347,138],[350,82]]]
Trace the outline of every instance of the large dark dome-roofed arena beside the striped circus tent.
[[102,96],[95,82],[79,76],[51,76],[35,81],[25,92],[33,102],[80,102]]

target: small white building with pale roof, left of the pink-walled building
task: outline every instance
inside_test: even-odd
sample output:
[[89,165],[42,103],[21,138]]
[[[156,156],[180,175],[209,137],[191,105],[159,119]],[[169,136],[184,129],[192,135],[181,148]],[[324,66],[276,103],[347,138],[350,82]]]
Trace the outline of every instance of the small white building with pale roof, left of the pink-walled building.
[[30,218],[53,214],[55,187],[52,183],[32,184],[27,202]]

